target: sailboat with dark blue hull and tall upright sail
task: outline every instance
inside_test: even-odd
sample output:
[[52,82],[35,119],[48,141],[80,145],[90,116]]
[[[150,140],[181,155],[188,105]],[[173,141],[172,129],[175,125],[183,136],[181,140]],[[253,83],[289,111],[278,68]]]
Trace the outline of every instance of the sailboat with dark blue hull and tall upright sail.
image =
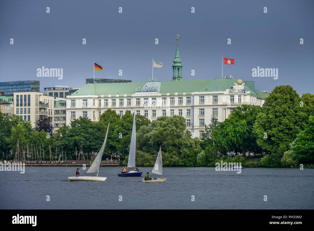
[[[136,150],[136,128],[135,128],[135,112],[134,112],[130,152],[129,152],[129,159],[127,162],[128,168],[132,168],[132,169],[135,168],[135,150]],[[142,176],[142,173],[143,172],[137,172],[137,171],[132,170],[126,173],[119,173],[118,176]]]

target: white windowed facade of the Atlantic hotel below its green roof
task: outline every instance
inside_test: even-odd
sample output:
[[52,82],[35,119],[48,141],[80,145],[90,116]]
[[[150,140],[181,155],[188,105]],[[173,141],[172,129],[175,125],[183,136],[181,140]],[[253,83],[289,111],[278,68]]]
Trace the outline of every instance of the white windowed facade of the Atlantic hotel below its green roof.
[[108,108],[123,115],[126,110],[155,120],[158,116],[182,115],[187,122],[187,129],[194,137],[201,137],[205,125],[214,117],[224,121],[234,107],[242,104],[262,106],[265,99],[245,93],[230,93],[230,89],[216,92],[166,93],[136,92],[135,94],[117,95],[79,95],[66,99],[66,121],[85,116],[98,121]]

